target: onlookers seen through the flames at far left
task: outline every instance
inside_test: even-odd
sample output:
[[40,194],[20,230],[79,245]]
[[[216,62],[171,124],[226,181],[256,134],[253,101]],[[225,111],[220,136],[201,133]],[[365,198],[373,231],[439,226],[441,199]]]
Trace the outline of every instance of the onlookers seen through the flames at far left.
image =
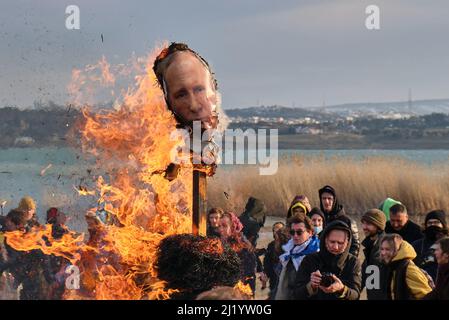
[[[104,212],[100,212],[104,213]],[[54,254],[44,254],[40,249],[19,249],[8,243],[7,234],[18,232],[19,237],[26,238],[28,233],[49,230],[43,233],[42,240],[46,246],[60,240],[65,234],[77,238],[80,234],[69,230],[66,225],[68,216],[60,209],[51,207],[46,211],[45,224],[38,221],[36,202],[29,196],[23,197],[17,208],[5,216],[0,216],[0,298],[20,300],[61,300],[66,292],[66,280],[71,272],[68,259]],[[103,218],[103,219],[102,219]],[[79,267],[81,295],[94,297],[98,269],[101,265],[112,265],[120,270],[119,258],[111,253],[105,254],[105,225],[117,221],[107,214],[103,216],[88,212],[85,216],[88,231],[88,247],[100,248],[98,251],[81,252]],[[110,221],[109,221],[110,220]],[[80,243],[81,245],[81,243]],[[98,259],[96,259],[96,257]]]

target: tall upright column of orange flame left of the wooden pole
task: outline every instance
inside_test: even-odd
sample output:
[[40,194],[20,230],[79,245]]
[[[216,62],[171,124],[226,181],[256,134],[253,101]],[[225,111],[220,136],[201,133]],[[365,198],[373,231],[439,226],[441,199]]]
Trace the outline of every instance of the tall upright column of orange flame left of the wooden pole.
[[160,174],[180,141],[170,140],[176,121],[155,85],[152,65],[158,51],[148,57],[146,73],[136,77],[136,89],[128,90],[119,108],[83,109],[83,149],[113,172],[109,179],[98,178],[98,202],[120,224],[105,230],[103,249],[119,263],[97,269],[96,299],[168,298],[175,291],[165,289],[153,268],[157,246],[167,235],[191,231],[192,166],[181,167],[174,181]]

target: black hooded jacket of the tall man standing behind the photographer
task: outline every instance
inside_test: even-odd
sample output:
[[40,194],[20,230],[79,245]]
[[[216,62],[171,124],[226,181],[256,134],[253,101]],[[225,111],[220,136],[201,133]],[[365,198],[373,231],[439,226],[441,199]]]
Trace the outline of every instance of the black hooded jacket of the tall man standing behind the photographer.
[[[325,192],[330,193],[334,196],[334,203],[332,205],[332,210],[330,212],[326,212],[324,210],[324,206],[321,201],[321,195]],[[349,252],[351,254],[353,254],[354,256],[358,257],[359,250],[360,250],[360,239],[359,239],[359,229],[357,227],[357,223],[346,215],[343,205],[340,204],[338,201],[338,197],[337,197],[337,194],[336,194],[334,188],[332,188],[331,186],[324,186],[323,188],[321,188],[318,191],[318,193],[319,193],[319,197],[320,197],[320,209],[324,213],[324,217],[326,220],[325,223],[329,224],[332,221],[341,220],[344,223],[346,223],[348,226],[351,227],[351,233],[352,233],[351,239],[352,240],[351,240],[351,247],[349,249]]]

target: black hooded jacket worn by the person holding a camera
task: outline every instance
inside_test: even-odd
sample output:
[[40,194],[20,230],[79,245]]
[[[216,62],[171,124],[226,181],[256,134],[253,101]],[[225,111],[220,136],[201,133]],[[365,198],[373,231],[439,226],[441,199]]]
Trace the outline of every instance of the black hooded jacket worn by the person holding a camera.
[[[361,265],[358,259],[349,252],[349,245],[339,255],[333,255],[326,248],[326,237],[332,230],[344,230],[349,235],[351,243],[351,229],[343,221],[330,223],[320,237],[320,251],[307,255],[296,274],[294,296],[299,300],[358,300],[361,290]],[[344,284],[342,293],[325,293],[320,289],[313,290],[310,286],[310,275],[320,270],[331,272]]]

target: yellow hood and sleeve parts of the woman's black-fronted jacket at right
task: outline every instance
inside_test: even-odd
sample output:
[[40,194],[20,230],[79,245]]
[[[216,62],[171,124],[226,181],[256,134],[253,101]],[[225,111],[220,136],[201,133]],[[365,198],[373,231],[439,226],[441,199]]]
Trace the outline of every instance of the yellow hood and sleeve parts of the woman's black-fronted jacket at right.
[[[405,275],[405,281],[407,284],[407,287],[409,288],[410,295],[412,299],[418,300],[424,298],[425,295],[427,295],[429,292],[432,291],[432,288],[429,286],[429,281],[426,277],[426,275],[421,271],[420,268],[418,268],[414,263],[413,259],[416,258],[416,252],[415,249],[413,249],[412,245],[408,243],[407,241],[403,241],[401,244],[401,247],[399,248],[398,253],[393,258],[391,262],[403,260],[403,259],[410,259],[410,263],[407,267],[406,275]],[[396,272],[393,272],[393,278],[390,283],[391,286],[391,292],[392,292],[392,298],[395,300],[394,297],[394,284],[395,284],[395,274]]]

